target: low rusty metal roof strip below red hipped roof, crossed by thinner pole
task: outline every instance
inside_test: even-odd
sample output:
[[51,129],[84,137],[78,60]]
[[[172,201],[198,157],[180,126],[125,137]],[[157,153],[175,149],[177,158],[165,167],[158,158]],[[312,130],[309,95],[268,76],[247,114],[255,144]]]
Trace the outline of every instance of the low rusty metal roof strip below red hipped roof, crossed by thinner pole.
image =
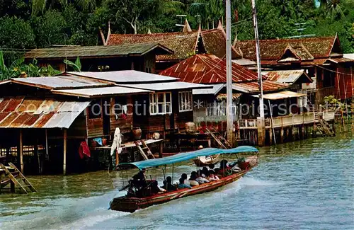
[[[278,91],[282,88],[289,87],[288,84],[280,84],[276,81],[263,81],[263,91]],[[241,91],[242,93],[256,93],[259,91],[258,81],[241,82],[232,84],[232,89]]]

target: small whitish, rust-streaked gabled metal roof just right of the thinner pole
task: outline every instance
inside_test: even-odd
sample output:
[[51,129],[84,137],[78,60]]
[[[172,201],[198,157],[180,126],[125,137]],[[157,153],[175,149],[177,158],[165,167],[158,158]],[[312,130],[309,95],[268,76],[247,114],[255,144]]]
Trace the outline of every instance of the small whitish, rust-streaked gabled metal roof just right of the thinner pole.
[[306,79],[301,83],[312,83],[312,79],[309,78],[304,69],[262,71],[262,74],[267,76],[267,80],[279,83],[294,84],[300,76],[304,76]]

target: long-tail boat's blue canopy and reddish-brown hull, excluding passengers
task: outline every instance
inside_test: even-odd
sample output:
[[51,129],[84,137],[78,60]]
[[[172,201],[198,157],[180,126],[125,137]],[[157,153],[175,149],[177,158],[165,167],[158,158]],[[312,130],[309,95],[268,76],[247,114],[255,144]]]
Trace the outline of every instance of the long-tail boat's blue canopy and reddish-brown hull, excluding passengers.
[[121,212],[135,212],[137,209],[144,209],[146,207],[161,204],[164,202],[169,202],[171,200],[176,200],[182,197],[187,197],[190,195],[196,195],[203,192],[210,192],[216,190],[224,185],[238,180],[244,176],[248,171],[258,164],[258,150],[252,146],[239,146],[234,149],[200,149],[198,151],[192,151],[187,153],[176,154],[173,156],[168,156],[160,159],[150,159],[146,161],[137,161],[134,163],[120,163],[120,167],[130,166],[136,167],[140,170],[144,168],[154,168],[159,166],[172,165],[174,163],[188,161],[191,159],[196,159],[200,156],[215,156],[217,154],[239,154],[239,153],[257,153],[256,156],[251,156],[246,159],[246,167],[241,168],[239,172],[231,173],[228,176],[223,176],[219,180],[211,181],[210,183],[200,184],[192,188],[183,188],[171,192],[159,193],[156,195],[149,195],[147,197],[134,197],[131,195],[125,195],[122,197],[115,197],[110,202],[110,209],[121,211]]

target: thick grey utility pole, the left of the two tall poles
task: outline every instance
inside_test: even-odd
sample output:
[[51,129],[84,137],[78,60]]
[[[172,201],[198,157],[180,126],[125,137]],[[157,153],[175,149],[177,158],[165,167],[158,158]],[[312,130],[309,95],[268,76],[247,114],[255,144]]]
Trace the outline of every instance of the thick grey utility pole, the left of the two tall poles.
[[231,3],[226,0],[226,92],[227,92],[227,142],[234,145],[234,122],[232,115],[232,62],[231,62]]

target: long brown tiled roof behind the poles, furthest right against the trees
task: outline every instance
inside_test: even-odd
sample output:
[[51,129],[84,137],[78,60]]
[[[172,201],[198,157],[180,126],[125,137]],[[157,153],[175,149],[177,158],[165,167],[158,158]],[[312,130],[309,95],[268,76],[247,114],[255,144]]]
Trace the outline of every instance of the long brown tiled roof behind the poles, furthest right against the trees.
[[[295,49],[300,57],[309,59],[310,55],[314,58],[326,58],[331,54],[335,42],[339,42],[337,37],[323,38],[303,38],[303,39],[279,39],[279,40],[260,40],[261,59],[279,59],[288,45]],[[236,50],[241,49],[244,58],[256,59],[256,47],[254,40],[235,42]],[[307,53],[309,52],[309,54]]]

